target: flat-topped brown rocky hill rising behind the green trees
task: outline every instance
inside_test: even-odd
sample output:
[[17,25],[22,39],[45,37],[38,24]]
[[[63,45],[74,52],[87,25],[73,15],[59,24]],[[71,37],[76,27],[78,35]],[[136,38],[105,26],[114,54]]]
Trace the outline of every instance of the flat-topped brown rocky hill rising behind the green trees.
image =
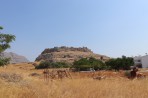
[[110,59],[105,55],[95,54],[87,47],[54,47],[45,49],[37,58],[36,61],[48,60],[52,62],[68,62],[72,63],[81,58],[94,57],[102,61]]

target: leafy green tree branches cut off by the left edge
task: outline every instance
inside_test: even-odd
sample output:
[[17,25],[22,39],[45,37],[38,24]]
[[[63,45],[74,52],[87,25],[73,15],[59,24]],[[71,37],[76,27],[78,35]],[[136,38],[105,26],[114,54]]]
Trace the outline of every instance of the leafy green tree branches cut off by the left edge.
[[[0,30],[3,30],[3,27],[0,26]],[[11,34],[3,34],[0,32],[0,54],[6,49],[10,48],[10,43],[15,41],[15,36]],[[2,58],[0,56],[0,66],[8,64],[8,58]]]

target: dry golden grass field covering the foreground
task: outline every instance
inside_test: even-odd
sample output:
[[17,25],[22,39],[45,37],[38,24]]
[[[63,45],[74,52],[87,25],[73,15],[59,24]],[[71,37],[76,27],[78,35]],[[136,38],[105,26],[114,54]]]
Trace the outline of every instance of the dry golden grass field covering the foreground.
[[[123,72],[71,73],[72,79],[45,81],[31,64],[0,68],[0,98],[148,98],[148,79],[129,80]],[[36,73],[37,75],[31,75]]]

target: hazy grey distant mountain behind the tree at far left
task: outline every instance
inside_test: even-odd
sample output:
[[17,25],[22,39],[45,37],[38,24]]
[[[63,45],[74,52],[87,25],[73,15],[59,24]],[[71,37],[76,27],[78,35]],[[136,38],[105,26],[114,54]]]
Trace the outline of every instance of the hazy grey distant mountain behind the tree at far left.
[[11,58],[10,63],[24,63],[29,62],[29,60],[21,55],[12,52],[3,52],[0,54],[2,57]]

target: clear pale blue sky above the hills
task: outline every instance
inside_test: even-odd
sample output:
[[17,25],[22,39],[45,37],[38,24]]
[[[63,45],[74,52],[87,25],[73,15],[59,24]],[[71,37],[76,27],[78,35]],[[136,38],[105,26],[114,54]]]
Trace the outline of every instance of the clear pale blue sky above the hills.
[[109,57],[148,53],[148,0],[0,0],[8,52],[30,61],[55,46],[88,47]]

